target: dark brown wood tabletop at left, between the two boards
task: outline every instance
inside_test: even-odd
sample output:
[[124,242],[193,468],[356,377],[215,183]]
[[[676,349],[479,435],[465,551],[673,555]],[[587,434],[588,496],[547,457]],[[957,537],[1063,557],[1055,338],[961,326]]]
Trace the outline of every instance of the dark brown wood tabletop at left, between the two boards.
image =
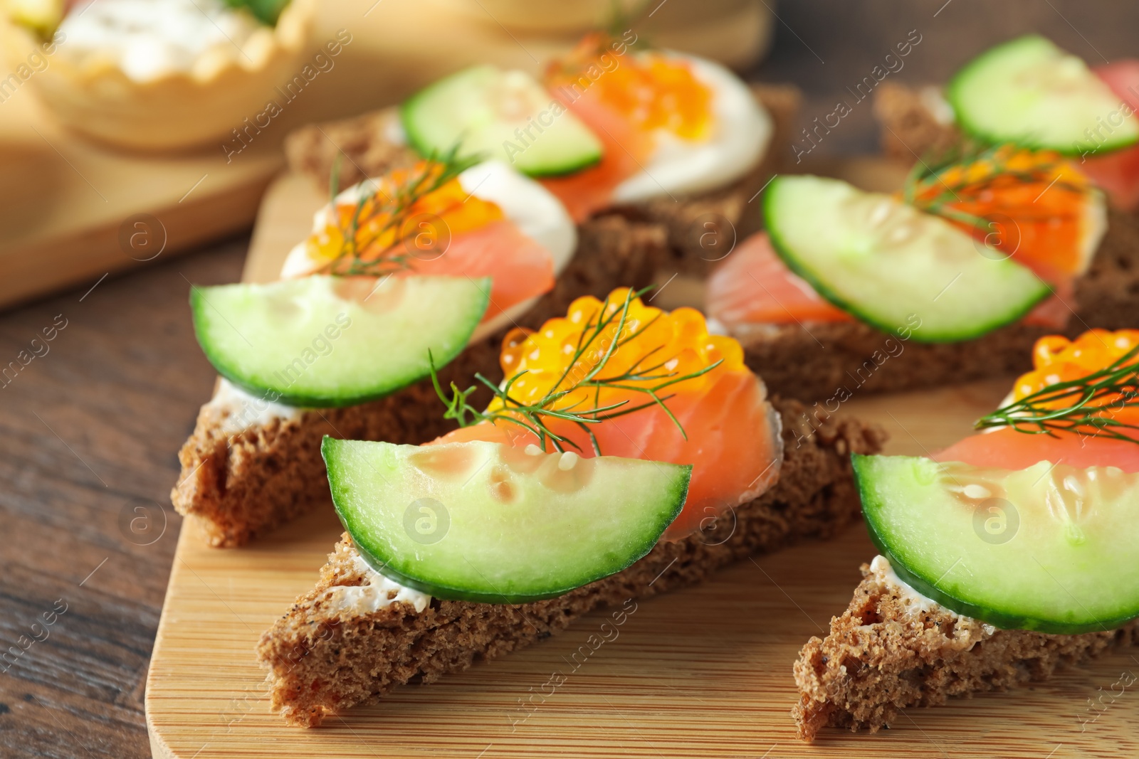
[[[0,317],[0,365],[42,354],[0,389],[5,758],[149,756],[142,693],[180,527],[175,453],[214,381],[187,281],[238,279],[246,242]],[[54,323],[66,325],[44,343]]]

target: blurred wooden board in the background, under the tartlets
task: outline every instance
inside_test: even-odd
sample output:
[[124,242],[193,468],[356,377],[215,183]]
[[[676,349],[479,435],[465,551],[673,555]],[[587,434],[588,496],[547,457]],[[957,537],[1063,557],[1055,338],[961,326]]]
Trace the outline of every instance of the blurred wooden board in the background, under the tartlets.
[[[770,36],[770,13],[759,0],[713,5],[677,2],[638,28],[661,44],[752,65]],[[229,158],[220,140],[161,156],[96,145],[55,122],[35,98],[34,80],[5,93],[0,307],[248,229],[262,192],[284,164],[282,140],[295,126],[396,102],[474,63],[536,72],[540,61],[564,52],[580,34],[511,31],[497,20],[509,24],[510,10],[502,0],[487,0],[486,7],[478,0],[320,0],[313,50],[343,40],[342,31],[351,42],[329,59],[330,67],[329,61],[320,66],[270,127]],[[8,71],[2,53],[0,79]],[[256,104],[249,115],[262,107]],[[230,149],[238,147],[233,142]]]

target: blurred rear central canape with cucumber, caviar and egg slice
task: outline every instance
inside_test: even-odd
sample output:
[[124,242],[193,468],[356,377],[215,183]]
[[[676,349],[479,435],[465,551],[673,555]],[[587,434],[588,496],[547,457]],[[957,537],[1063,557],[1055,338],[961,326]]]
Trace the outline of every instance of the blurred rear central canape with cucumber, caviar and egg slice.
[[647,49],[632,31],[592,33],[541,80],[475,66],[399,108],[302,129],[286,151],[323,183],[341,154],[355,180],[461,137],[541,181],[575,221],[614,207],[655,221],[669,234],[666,265],[705,274],[789,156],[797,107],[794,88],[748,88],[713,61]]

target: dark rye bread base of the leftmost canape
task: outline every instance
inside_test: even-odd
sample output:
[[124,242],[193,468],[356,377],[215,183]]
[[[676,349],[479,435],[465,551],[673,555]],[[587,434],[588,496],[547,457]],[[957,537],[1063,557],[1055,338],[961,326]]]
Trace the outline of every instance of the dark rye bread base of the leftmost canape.
[[[614,288],[644,287],[664,255],[663,231],[618,215],[595,216],[579,226],[577,251],[554,289],[515,324],[536,329],[565,315],[574,298],[604,298]],[[440,372],[466,388],[482,372],[502,377],[499,353],[510,324],[468,346]],[[489,402],[490,395],[473,403]],[[346,409],[313,409],[298,419],[235,424],[231,412],[202,407],[178,457],[182,473],[171,500],[182,514],[198,518],[215,546],[247,543],[302,512],[331,504],[320,440],[325,435],[358,440],[419,444],[451,430],[431,379],[380,401]],[[232,428],[238,428],[237,430]]]

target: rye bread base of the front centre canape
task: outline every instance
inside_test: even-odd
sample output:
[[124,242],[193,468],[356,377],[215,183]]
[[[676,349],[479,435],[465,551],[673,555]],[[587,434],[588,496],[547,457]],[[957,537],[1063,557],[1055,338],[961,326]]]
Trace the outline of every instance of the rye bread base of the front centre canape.
[[316,588],[261,636],[257,657],[270,670],[272,709],[292,725],[312,727],[398,685],[432,683],[557,634],[597,607],[699,583],[752,553],[839,533],[860,513],[850,454],[878,451],[884,434],[842,416],[825,419],[811,434],[800,421],[801,404],[773,404],[786,452],[770,490],[738,506],[714,533],[657,544],[624,571],[556,599],[522,605],[434,599],[421,612],[402,601],[379,610],[345,604],[343,588],[375,577],[345,534]]

